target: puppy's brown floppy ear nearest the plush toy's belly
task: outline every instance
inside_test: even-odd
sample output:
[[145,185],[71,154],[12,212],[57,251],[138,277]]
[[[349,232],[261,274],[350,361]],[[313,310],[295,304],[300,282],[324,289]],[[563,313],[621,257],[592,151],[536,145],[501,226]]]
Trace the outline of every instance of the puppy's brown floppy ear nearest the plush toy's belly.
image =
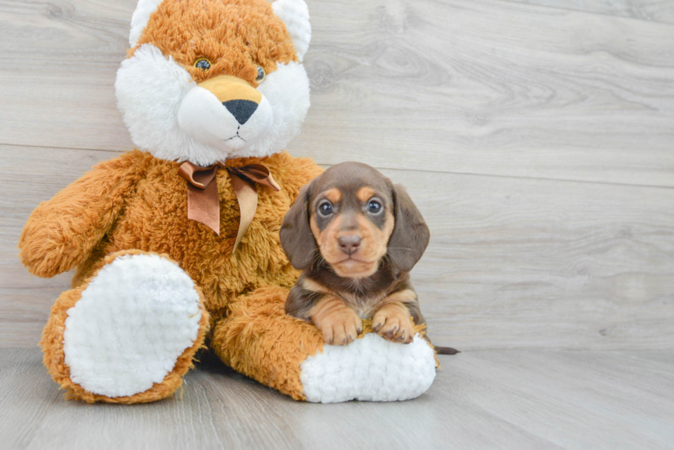
[[307,184],[300,190],[281,225],[281,247],[295,269],[309,267],[316,251],[316,240],[309,226],[310,194],[310,184]]

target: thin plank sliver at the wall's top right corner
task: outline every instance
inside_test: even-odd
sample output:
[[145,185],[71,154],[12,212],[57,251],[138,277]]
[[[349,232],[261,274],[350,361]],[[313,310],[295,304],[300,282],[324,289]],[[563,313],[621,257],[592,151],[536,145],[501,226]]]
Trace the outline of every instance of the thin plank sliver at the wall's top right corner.
[[630,17],[641,21],[674,23],[671,0],[510,0],[565,10],[594,12],[609,16]]

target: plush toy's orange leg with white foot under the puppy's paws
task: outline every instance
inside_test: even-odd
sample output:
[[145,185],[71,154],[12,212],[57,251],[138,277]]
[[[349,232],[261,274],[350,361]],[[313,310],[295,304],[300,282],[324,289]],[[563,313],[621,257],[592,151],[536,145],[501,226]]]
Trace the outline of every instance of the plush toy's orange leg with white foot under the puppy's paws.
[[296,400],[322,403],[406,400],[433,383],[435,353],[421,335],[393,343],[364,322],[360,339],[330,346],[316,327],[285,314],[287,293],[258,289],[230,306],[211,341],[226,364]]

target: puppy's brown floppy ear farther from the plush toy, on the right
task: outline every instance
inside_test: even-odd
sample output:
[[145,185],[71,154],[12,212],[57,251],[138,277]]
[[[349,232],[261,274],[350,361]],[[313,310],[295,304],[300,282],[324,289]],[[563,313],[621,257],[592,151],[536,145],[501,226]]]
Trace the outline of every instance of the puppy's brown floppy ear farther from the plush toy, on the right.
[[409,194],[401,185],[391,185],[395,224],[388,255],[395,267],[409,272],[424,254],[431,232]]

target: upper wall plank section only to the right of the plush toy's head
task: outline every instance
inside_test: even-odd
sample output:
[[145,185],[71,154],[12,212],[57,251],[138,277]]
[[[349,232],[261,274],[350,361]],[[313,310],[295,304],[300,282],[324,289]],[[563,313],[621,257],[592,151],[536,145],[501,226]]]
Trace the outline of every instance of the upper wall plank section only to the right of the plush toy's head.
[[499,1],[339,5],[314,14],[325,40],[307,60],[305,136],[325,146],[298,143],[321,161],[672,185],[671,25]]

